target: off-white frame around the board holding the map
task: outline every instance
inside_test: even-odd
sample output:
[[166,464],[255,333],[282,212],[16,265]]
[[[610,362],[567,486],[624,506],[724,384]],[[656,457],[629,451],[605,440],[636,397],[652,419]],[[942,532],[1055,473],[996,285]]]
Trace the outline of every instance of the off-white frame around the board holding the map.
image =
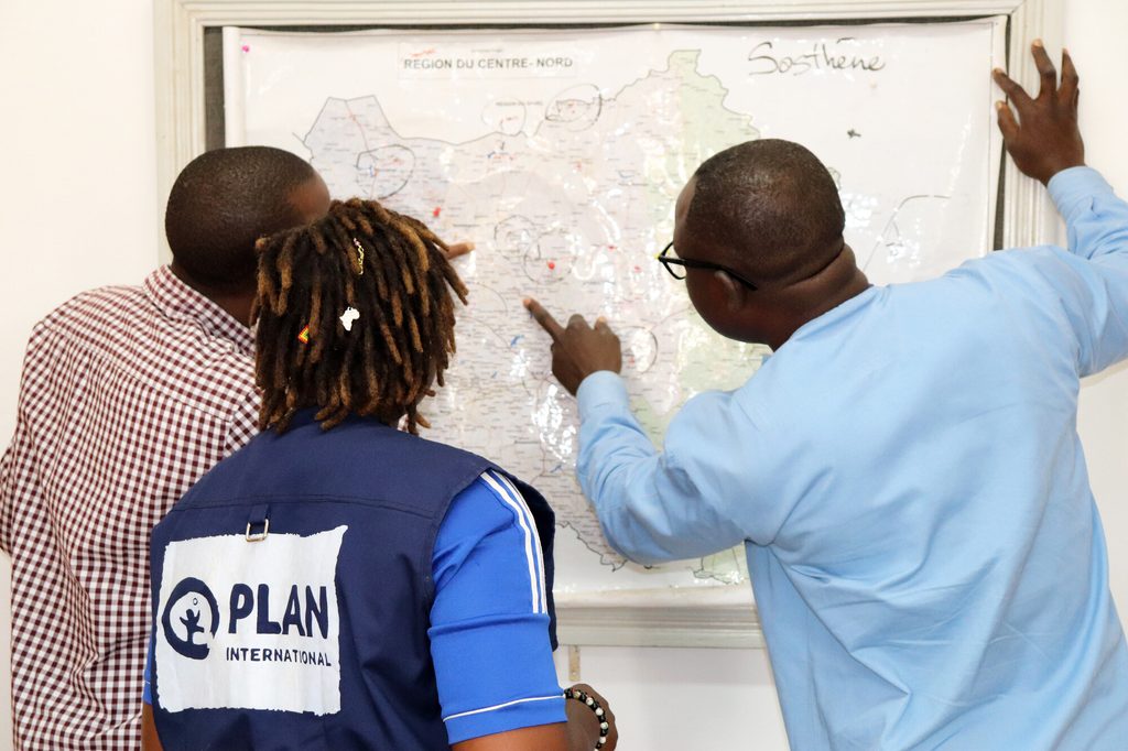
[[[1036,86],[1030,44],[1061,43],[1064,0],[153,0],[157,210],[179,170],[204,151],[204,29],[212,26],[841,21],[1007,16],[1010,72]],[[1002,95],[1001,95],[1002,96]],[[1006,160],[1004,247],[1059,241],[1060,222],[1036,180]],[[159,247],[165,248],[164,238]],[[164,250],[162,253],[167,253]],[[742,590],[733,592],[729,590]],[[562,644],[763,647],[748,587],[558,595]]]

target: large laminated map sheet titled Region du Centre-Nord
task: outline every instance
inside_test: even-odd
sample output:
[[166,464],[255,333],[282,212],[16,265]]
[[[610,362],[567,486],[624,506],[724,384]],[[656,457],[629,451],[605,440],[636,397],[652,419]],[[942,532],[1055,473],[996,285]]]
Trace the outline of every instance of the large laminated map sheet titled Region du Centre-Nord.
[[[228,140],[294,150],[335,196],[377,198],[448,241],[477,244],[457,262],[470,304],[447,387],[423,407],[434,425],[428,438],[497,461],[553,503],[557,589],[733,584],[747,578],[741,550],[644,569],[607,545],[575,479],[574,400],[552,378],[547,337],[521,300],[609,319],[624,342],[635,414],[660,445],[681,404],[741,385],[767,354],[712,333],[684,283],[653,259],[672,235],[678,192],[710,156],[767,135],[812,145],[839,180],[847,240],[873,281],[917,279],[981,254],[988,217],[970,206],[987,191],[988,127],[976,154],[982,165],[961,169],[957,160],[887,184],[862,169],[862,144],[889,126],[880,103],[896,79],[887,71],[909,65],[891,48],[890,28],[869,27],[872,38],[857,28],[800,38],[779,36],[794,29],[372,33],[332,44],[327,35],[228,29]],[[996,30],[977,24],[962,33],[990,70]],[[731,64],[719,48],[734,51]],[[368,91],[334,83],[360,68],[387,76]],[[984,78],[973,99],[989,125]],[[855,112],[854,101],[823,121],[836,131],[825,134],[831,148],[782,125],[812,117],[801,112],[818,109],[810,97],[832,106],[840,89],[876,104]],[[866,153],[888,157],[872,145]],[[922,164],[934,158],[919,154]]]

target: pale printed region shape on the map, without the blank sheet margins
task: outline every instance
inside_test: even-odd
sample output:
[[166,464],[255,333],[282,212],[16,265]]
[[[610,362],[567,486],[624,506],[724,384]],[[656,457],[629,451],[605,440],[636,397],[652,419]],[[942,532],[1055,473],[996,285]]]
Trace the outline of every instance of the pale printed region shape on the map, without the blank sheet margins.
[[[750,353],[720,346],[689,313],[684,286],[664,272],[654,279],[658,264],[629,253],[654,245],[654,227],[676,196],[670,175],[756,136],[749,116],[724,108],[720,81],[697,72],[697,56],[675,52],[666,70],[606,98],[596,86],[578,86],[544,103],[502,103],[499,130],[465,143],[397,134],[374,96],[329,99],[303,139],[336,195],[379,198],[447,238],[492,229],[429,436],[527,478],[553,500],[559,524],[613,568],[624,560],[578,493],[572,399],[530,368],[547,344],[529,335],[520,302],[536,294],[562,315],[606,312],[638,376],[636,407],[658,435],[688,394],[740,382],[715,382],[711,373],[730,381],[750,374]],[[526,134],[519,125],[530,116],[538,122]],[[712,562],[694,569],[739,577],[731,560],[720,571]]]

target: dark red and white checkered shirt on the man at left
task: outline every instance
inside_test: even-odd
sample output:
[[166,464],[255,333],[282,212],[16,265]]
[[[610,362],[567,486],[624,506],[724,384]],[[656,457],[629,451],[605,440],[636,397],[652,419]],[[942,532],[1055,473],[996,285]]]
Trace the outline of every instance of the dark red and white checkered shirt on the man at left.
[[149,534],[254,435],[252,335],[167,267],[32,333],[0,466],[17,749],[138,749]]

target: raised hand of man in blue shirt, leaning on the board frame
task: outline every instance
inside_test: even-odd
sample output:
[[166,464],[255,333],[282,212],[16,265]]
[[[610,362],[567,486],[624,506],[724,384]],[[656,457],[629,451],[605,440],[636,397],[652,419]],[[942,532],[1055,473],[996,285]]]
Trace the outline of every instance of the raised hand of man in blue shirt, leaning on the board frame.
[[1037,98],[1015,83],[999,69],[995,69],[995,82],[1006,92],[1014,112],[1005,101],[998,108],[998,127],[1003,131],[1006,150],[1014,165],[1023,174],[1049,183],[1063,169],[1085,164],[1085,144],[1077,127],[1077,70],[1069,53],[1061,51],[1061,83],[1058,85],[1054,61],[1046,53],[1041,41],[1031,47],[1034,64],[1041,76]]

